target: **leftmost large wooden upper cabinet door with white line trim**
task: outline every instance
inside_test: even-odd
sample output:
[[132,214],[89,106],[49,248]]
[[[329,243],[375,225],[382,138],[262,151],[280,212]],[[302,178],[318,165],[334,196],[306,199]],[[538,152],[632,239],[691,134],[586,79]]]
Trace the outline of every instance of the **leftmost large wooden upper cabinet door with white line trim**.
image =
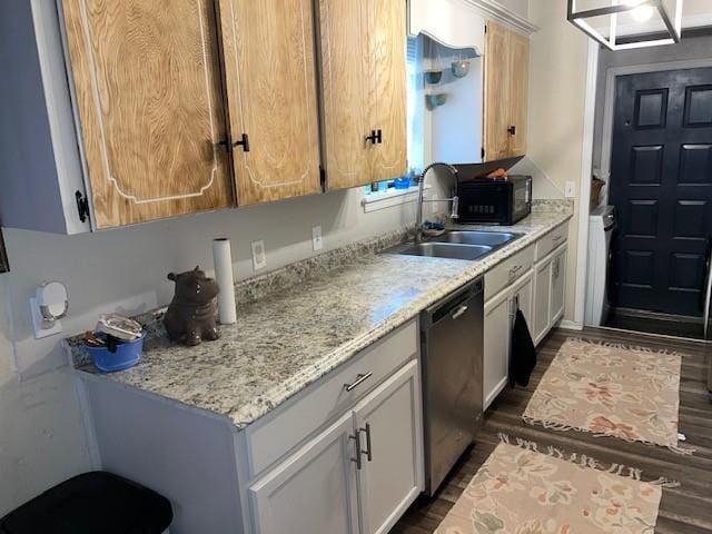
[[93,224],[233,205],[212,0],[66,0]]

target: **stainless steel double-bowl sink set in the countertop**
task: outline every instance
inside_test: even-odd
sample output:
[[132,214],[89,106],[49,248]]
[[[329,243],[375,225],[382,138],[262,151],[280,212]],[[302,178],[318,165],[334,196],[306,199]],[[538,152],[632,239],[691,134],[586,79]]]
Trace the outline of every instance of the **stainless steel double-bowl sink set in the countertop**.
[[423,243],[398,245],[386,253],[474,261],[520,237],[510,231],[451,230]]

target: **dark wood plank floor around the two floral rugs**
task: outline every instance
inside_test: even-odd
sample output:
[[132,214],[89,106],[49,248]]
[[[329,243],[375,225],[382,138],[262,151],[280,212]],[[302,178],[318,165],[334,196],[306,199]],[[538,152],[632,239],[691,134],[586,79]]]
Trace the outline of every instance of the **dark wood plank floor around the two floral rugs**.
[[[686,444],[696,448],[683,456],[665,447],[626,443],[611,437],[593,437],[581,432],[546,431],[525,424],[521,416],[561,344],[570,336],[643,345],[654,349],[684,353],[680,392],[680,432]],[[540,446],[554,445],[566,453],[586,454],[602,463],[619,463],[643,469],[643,479],[664,476],[680,481],[676,488],[664,488],[660,506],[657,534],[712,533],[712,403],[706,389],[706,359],[712,345],[671,340],[640,334],[605,329],[584,333],[555,330],[538,350],[540,362],[526,389],[505,390],[485,414],[483,431],[474,445],[455,466],[433,500],[421,498],[404,515],[392,533],[425,534],[435,531],[455,504],[472,476],[500,443],[498,433],[522,437]]]

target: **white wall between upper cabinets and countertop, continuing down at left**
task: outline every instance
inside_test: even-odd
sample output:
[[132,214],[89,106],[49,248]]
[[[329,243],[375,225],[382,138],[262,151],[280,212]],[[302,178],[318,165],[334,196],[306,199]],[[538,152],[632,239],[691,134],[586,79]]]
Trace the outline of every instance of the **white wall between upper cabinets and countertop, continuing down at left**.
[[77,334],[100,313],[168,304],[167,273],[197,264],[210,270],[215,237],[231,239],[236,276],[246,278],[255,274],[251,240],[265,240],[269,270],[315,254],[313,226],[322,226],[329,249],[415,220],[415,204],[365,214],[362,198],[357,188],[69,237],[6,229],[12,271],[0,275],[0,515],[89,468],[62,336],[32,335],[27,299],[38,284],[67,285],[62,326],[65,335]]

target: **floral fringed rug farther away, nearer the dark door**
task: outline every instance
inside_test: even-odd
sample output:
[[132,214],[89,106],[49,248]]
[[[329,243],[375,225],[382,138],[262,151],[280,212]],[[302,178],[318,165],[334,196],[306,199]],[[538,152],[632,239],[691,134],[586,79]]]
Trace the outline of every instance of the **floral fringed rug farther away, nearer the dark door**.
[[678,447],[680,366],[674,353],[567,339],[524,415],[528,424]]

